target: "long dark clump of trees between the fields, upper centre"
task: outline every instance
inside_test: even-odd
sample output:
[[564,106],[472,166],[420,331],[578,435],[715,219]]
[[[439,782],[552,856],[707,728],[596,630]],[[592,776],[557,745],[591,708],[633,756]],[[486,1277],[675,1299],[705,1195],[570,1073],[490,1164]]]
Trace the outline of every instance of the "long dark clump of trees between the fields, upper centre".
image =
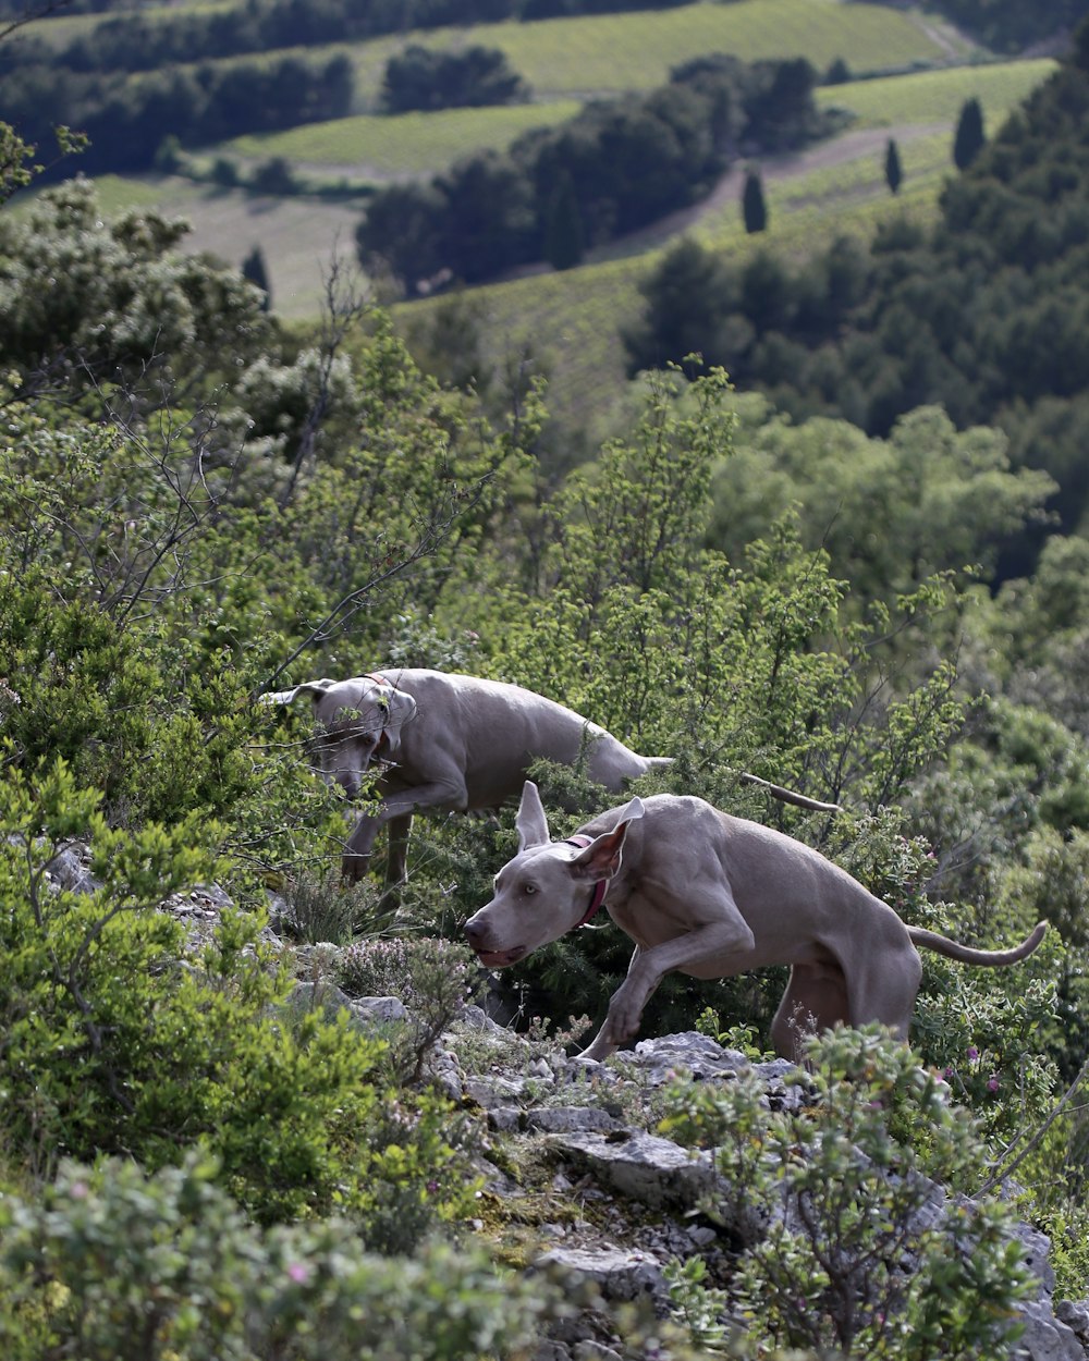
[[436,278],[476,283],[544,259],[562,199],[565,241],[610,241],[698,200],[741,148],[777,151],[821,136],[828,122],[815,83],[803,59],[686,63],[649,94],[594,102],[506,152],[383,189],[359,226],[359,256],[410,294]]

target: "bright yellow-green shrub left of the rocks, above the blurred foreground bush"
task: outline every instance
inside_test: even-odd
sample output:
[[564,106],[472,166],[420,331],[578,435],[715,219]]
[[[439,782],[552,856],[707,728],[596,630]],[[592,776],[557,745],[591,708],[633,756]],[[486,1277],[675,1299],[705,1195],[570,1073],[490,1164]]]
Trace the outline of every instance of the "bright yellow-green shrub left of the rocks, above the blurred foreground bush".
[[[225,911],[186,947],[158,905],[208,882],[216,829],[110,830],[63,764],[0,787],[0,1092],[12,1155],[127,1153],[152,1169],[201,1145],[261,1221],[361,1221],[374,1245],[411,1245],[464,1217],[468,1127],[449,1104],[389,1090],[388,1044],[346,1013],[279,1007],[291,979],[261,917]],[[86,836],[101,887],[50,885],[61,845]]]

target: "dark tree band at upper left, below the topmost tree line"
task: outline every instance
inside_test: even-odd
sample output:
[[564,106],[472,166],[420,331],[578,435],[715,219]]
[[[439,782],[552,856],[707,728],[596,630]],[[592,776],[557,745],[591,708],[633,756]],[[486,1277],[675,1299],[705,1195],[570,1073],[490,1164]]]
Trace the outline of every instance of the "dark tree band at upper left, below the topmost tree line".
[[192,147],[342,117],[353,87],[344,56],[210,63],[139,78],[20,65],[4,75],[4,113],[37,144],[50,140],[54,124],[87,133],[79,165],[67,162],[57,173],[124,173],[148,170],[165,137]]

